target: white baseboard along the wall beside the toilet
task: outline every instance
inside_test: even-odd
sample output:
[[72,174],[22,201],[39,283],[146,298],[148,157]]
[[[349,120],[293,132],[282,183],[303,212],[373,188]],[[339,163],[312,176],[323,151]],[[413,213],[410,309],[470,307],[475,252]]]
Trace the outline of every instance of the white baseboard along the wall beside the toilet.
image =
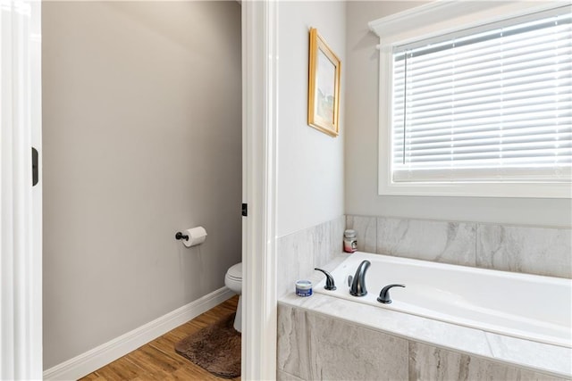
[[189,302],[189,304],[171,311],[141,327],[101,344],[96,348],[81,353],[70,360],[44,371],[45,380],[77,380],[100,369],[110,362],[119,359],[139,348],[141,345],[155,340],[175,327],[181,326],[190,319],[196,318],[214,306],[229,299],[234,293],[226,287],[219,288],[211,294]]

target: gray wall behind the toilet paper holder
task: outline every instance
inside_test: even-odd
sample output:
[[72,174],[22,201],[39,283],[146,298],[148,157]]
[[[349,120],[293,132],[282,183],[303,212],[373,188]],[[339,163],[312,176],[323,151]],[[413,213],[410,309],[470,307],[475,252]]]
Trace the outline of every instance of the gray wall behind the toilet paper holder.
[[[240,4],[42,8],[48,369],[240,261]],[[174,240],[198,225],[205,244]]]

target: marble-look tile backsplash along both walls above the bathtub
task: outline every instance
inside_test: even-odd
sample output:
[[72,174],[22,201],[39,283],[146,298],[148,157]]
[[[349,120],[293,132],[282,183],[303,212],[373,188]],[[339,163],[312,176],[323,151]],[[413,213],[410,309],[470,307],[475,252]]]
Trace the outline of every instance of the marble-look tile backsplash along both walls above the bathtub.
[[279,297],[342,253],[346,228],[360,252],[572,278],[569,228],[348,215],[277,239]]

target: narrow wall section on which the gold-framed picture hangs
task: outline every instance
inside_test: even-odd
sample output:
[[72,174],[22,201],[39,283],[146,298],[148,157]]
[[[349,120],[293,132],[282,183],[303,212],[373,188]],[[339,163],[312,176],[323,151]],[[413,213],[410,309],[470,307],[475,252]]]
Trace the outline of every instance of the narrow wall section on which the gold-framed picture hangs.
[[[343,214],[346,4],[278,3],[278,192],[276,236]],[[314,27],[341,59],[340,135],[307,125],[308,30]]]

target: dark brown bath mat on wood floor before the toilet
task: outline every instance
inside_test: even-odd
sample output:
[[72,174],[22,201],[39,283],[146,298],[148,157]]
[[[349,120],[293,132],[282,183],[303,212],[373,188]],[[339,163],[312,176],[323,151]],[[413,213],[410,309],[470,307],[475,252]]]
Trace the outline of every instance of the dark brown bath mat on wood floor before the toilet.
[[240,332],[232,327],[234,313],[188,335],[175,351],[214,376],[240,377]]

